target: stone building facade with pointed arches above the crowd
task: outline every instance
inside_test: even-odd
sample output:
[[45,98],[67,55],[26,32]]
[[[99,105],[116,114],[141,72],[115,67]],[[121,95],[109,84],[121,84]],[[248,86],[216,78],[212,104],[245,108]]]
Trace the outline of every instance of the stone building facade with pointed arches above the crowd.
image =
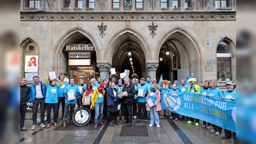
[[[89,65],[70,59],[69,44],[93,45],[69,50],[90,52]],[[172,82],[193,75],[198,84],[224,82],[230,71],[236,81],[235,49],[235,0],[20,0],[20,76],[66,71],[89,82],[115,68]],[[36,68],[28,69],[34,56]]]

